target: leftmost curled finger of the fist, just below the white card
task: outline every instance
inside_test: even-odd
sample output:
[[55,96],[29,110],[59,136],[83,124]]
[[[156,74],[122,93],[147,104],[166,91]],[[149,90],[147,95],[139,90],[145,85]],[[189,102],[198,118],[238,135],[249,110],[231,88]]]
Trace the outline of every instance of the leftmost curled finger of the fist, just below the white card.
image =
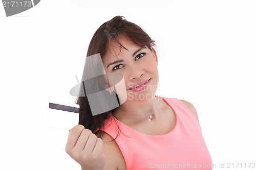
[[67,152],[67,150],[71,150],[72,148],[75,147],[76,142],[77,142],[83,129],[84,129],[84,126],[76,125],[76,126],[74,126],[74,128],[72,128],[70,130],[69,136],[68,136],[68,141],[66,144],[66,152]]

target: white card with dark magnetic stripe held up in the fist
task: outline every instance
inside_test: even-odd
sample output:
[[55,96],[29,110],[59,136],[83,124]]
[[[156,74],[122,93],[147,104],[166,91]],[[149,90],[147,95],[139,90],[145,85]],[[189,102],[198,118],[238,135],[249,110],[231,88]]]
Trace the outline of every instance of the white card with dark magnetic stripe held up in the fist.
[[49,102],[48,127],[70,130],[79,124],[79,105]]

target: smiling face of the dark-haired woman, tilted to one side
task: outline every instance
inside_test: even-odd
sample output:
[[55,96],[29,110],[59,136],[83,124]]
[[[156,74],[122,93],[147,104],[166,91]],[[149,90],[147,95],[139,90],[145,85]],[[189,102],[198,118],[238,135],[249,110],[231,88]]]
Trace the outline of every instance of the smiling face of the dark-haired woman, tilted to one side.
[[[122,47],[120,52],[120,46],[114,45],[102,59],[105,72],[122,74],[127,100],[152,99],[158,86],[156,51],[154,48],[151,51],[146,46],[141,47],[124,36],[121,36],[120,42],[127,50]],[[141,82],[146,84],[137,87]]]

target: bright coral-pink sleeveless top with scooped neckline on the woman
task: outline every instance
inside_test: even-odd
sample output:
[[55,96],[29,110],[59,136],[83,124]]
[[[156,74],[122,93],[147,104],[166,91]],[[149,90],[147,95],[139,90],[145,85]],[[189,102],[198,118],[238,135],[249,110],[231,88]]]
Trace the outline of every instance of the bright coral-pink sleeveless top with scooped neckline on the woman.
[[114,139],[119,134],[115,141],[123,154],[126,169],[212,169],[211,157],[195,115],[176,98],[160,98],[176,115],[175,128],[167,134],[146,135],[114,116],[105,119],[104,132]]

